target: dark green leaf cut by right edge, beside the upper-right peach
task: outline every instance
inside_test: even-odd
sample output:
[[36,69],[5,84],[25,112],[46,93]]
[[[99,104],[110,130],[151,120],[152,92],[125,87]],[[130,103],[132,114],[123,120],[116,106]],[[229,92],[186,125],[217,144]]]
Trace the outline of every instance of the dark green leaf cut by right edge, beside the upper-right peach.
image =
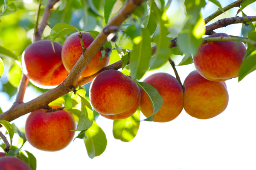
[[244,59],[239,70],[238,82],[240,82],[242,79],[244,79],[245,76],[247,76],[248,74],[250,74],[255,70],[256,70],[256,54],[248,57],[247,59]]

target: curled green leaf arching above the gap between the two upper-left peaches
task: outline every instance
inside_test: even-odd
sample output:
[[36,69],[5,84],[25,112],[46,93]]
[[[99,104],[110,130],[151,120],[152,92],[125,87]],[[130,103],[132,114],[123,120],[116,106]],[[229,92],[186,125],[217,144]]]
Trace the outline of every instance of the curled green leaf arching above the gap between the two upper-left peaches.
[[[53,42],[56,38],[60,38],[74,30],[77,30],[76,27],[74,26],[70,26],[68,24],[65,24],[65,23],[58,23],[56,24],[51,32],[50,32],[50,40],[51,40],[51,43],[52,43],[52,48],[53,48],[53,51],[55,52],[55,49],[54,49],[54,46],[53,46]],[[78,30],[77,30],[78,31]]]

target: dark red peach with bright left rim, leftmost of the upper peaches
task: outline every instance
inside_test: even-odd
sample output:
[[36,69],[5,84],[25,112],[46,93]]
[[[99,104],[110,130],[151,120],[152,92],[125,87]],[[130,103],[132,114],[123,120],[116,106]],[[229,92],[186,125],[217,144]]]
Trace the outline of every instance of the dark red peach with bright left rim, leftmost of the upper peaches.
[[61,60],[62,46],[58,42],[40,40],[30,44],[22,55],[23,72],[30,81],[41,88],[53,88],[67,77]]

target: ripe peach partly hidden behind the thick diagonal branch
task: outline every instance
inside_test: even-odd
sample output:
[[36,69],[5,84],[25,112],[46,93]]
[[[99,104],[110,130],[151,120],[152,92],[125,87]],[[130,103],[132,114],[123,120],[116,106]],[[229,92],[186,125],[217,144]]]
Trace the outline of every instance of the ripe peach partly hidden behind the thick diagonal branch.
[[[93,37],[90,35],[90,33],[86,32],[82,34],[82,39],[84,40],[84,47],[87,48],[89,45],[93,42]],[[76,64],[77,60],[82,55],[82,46],[80,43],[79,33],[71,34],[67,39],[65,40],[63,44],[63,48],[61,51],[61,57],[63,64],[67,71],[71,71],[73,66]],[[87,77],[91,76],[95,73],[97,73],[99,70],[104,68],[106,65],[108,65],[110,56],[105,57],[100,61],[99,58],[102,57],[101,52],[99,51],[93,59],[89,62],[89,64],[84,69],[83,73],[81,74],[81,77]]]

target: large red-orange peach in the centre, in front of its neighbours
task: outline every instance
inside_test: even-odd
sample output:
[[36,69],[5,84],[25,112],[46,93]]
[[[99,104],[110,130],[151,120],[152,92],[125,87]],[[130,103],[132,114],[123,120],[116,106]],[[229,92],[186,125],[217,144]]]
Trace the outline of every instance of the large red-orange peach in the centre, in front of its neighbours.
[[125,119],[139,108],[140,89],[134,80],[120,71],[106,70],[90,85],[90,102],[108,119]]

